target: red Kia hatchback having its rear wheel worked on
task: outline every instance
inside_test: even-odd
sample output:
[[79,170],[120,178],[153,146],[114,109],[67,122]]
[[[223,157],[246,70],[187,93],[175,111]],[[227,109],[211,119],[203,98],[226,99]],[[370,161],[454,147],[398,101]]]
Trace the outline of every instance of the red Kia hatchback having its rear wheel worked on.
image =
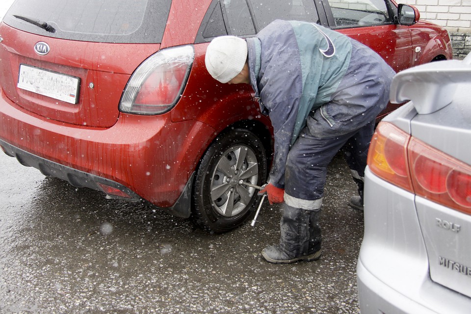
[[443,28],[392,0],[16,0],[0,25],[0,146],[74,186],[231,230],[256,201],[244,183],[266,180],[271,125],[250,86],[209,76],[205,51],[275,19],[338,29],[396,71],[452,55]]

